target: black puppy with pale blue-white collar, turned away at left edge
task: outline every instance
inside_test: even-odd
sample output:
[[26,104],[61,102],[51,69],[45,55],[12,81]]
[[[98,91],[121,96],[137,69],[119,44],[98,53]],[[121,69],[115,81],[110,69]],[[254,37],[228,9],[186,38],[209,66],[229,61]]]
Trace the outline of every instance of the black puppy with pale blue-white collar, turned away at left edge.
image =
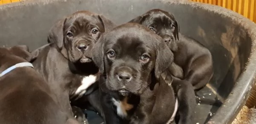
[[35,57],[25,45],[0,48],[0,124],[79,124],[29,63]]

